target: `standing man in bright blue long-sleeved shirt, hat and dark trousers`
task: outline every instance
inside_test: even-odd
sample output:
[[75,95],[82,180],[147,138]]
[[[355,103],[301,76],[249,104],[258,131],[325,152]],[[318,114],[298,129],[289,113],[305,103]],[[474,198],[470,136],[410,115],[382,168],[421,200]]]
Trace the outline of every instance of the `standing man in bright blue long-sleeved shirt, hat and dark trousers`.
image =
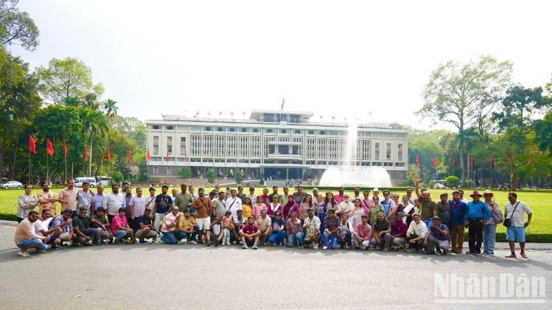
[[483,195],[473,191],[470,195],[473,201],[468,203],[466,208],[466,225],[468,227],[468,244],[470,251],[468,255],[481,255],[481,243],[483,242],[483,223],[491,217],[491,211],[486,203],[480,200]]

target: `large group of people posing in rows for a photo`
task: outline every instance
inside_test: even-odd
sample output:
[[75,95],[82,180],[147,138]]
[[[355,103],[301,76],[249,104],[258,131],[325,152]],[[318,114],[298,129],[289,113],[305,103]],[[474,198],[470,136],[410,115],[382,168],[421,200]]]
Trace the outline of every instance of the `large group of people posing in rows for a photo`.
[[492,256],[496,227],[504,221],[511,248],[506,257],[517,257],[516,241],[520,255],[527,257],[525,228],[533,212],[517,200],[515,192],[509,193],[503,214],[490,190],[475,191],[468,200],[459,189],[452,197],[444,193],[435,201],[420,189],[420,181],[416,178],[415,188],[406,189],[402,197],[388,190],[380,195],[377,187],[362,194],[359,187],[353,194],[343,187],[337,193],[313,188],[309,194],[301,185],[293,193],[288,187],[282,193],[277,186],[272,193],[264,188],[262,195],[255,194],[255,187],[246,194],[241,186],[222,190],[215,185],[212,192],[199,188],[196,194],[193,186],[185,184],[180,192],[172,189],[170,194],[166,185],[161,194],[150,187],[148,195],[141,187],[133,194],[126,182],[120,189],[113,184],[111,192],[104,194],[103,186],[92,192],[86,182],[77,189],[75,180],[68,180],[59,195],[42,183],[42,192],[35,196],[27,184],[18,202],[14,240],[20,256],[29,256],[31,248],[43,252],[48,246],[56,250],[106,243],[372,248],[446,255],[462,254],[467,228],[466,254]]

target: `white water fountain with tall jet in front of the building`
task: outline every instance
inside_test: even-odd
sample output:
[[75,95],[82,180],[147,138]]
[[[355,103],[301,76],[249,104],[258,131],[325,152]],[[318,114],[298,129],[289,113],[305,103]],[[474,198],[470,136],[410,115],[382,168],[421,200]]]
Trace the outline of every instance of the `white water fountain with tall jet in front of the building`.
[[319,186],[391,187],[391,179],[383,167],[355,165],[357,137],[357,122],[353,120],[347,126],[347,142],[343,158],[346,165],[326,169],[320,178]]

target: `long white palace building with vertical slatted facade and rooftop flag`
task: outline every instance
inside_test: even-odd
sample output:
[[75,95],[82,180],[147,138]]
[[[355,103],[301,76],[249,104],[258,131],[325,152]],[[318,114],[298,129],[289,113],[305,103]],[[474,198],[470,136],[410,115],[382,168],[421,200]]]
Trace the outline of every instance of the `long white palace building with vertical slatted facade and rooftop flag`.
[[[265,110],[253,110],[244,119],[162,114],[161,120],[146,121],[150,178],[178,178],[189,166],[193,177],[207,178],[213,168],[216,178],[232,178],[239,169],[244,180],[319,180],[328,167],[346,165],[348,127],[312,116]],[[351,165],[384,167],[393,184],[406,180],[408,132],[387,123],[358,124]]]

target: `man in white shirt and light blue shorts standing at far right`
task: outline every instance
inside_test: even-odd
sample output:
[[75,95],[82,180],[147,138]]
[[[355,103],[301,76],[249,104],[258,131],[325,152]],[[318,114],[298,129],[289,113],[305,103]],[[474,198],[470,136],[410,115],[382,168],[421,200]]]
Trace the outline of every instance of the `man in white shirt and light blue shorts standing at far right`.
[[[520,254],[522,258],[527,258],[525,255],[525,227],[531,224],[533,211],[523,201],[517,200],[517,194],[511,192],[508,194],[509,203],[504,205],[504,218],[511,220],[511,226],[506,229],[506,240],[510,245],[511,254],[506,258],[517,258],[515,256],[515,241],[520,242]],[[527,221],[525,221],[527,214]]]

